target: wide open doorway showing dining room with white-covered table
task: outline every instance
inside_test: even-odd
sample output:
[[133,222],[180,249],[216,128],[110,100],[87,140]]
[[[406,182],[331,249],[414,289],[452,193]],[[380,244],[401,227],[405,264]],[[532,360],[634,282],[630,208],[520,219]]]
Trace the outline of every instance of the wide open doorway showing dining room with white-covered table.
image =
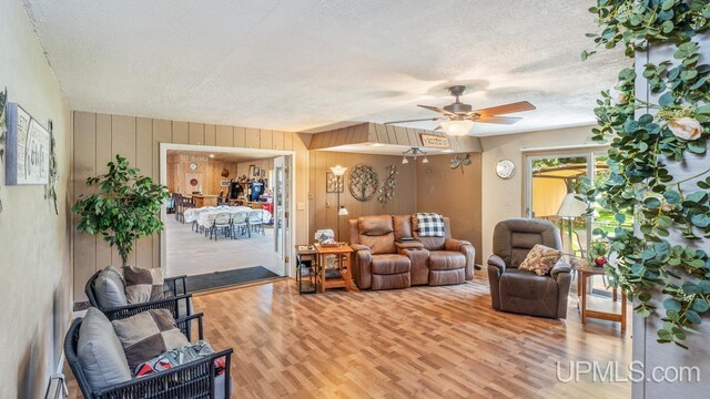
[[290,276],[293,152],[163,143],[160,162],[166,276],[195,287]]

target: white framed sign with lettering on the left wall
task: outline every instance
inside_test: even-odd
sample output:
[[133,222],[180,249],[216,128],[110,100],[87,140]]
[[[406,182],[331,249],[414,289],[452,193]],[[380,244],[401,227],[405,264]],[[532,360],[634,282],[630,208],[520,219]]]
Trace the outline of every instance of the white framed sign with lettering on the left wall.
[[17,103],[8,103],[6,183],[49,183],[50,134]]

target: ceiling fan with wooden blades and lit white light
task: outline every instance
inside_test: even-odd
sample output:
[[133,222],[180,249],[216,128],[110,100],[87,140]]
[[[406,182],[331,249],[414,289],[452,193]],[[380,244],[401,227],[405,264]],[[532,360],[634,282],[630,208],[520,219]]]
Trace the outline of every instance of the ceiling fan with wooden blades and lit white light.
[[438,112],[442,116],[425,117],[406,121],[393,121],[385,124],[405,123],[405,122],[423,122],[423,121],[442,121],[442,123],[434,130],[443,130],[449,135],[465,135],[470,132],[474,126],[474,122],[478,123],[496,123],[496,124],[514,124],[523,117],[516,116],[498,116],[515,112],[531,111],[535,110],[535,105],[527,101],[519,101],[510,104],[491,106],[481,110],[474,110],[470,104],[464,104],[459,101],[459,98],[466,91],[465,85],[453,85],[447,88],[448,92],[456,98],[452,104],[445,105],[444,109],[439,109],[430,105],[417,105],[429,111]]

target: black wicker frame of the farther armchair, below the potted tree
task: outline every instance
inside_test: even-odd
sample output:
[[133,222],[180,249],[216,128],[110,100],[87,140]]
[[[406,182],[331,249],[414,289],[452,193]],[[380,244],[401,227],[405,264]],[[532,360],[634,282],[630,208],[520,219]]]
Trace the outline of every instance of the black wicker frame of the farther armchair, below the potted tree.
[[[106,309],[99,306],[97,295],[94,294],[94,284],[97,282],[97,277],[99,277],[99,273],[101,272],[97,272],[93,276],[91,276],[91,278],[89,278],[89,282],[87,282],[87,285],[84,287],[84,291],[89,297],[89,303],[91,304],[91,306],[95,307],[97,309],[101,310],[101,313],[106,315],[109,320],[124,319],[126,317],[138,315],[141,311],[145,311],[149,309],[168,309],[173,315],[173,318],[175,318],[175,320],[180,319],[181,317],[190,316],[190,309],[192,307],[192,294],[187,293],[187,276],[165,278],[163,284],[163,294],[165,294],[165,299]],[[183,306],[181,306],[181,301],[183,301]]]

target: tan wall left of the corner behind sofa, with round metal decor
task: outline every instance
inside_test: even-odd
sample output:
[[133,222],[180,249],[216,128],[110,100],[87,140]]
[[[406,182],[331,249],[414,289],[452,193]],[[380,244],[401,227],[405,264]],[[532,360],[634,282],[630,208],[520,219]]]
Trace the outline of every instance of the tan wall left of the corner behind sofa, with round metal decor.
[[[347,208],[349,215],[341,217],[341,241],[349,241],[348,219],[351,218],[363,215],[412,214],[416,212],[416,165],[413,162],[403,165],[402,156],[311,151],[310,163],[311,195],[308,200],[312,217],[308,243],[314,241],[315,232],[321,228],[332,228],[337,234],[337,194],[325,192],[326,173],[331,171],[331,166],[348,167],[344,176],[345,187],[341,194],[341,205]],[[387,175],[387,165],[397,166],[399,175],[397,175],[395,196],[390,202],[381,204],[377,201],[377,194],[367,202],[357,201],[351,195],[347,190],[347,176],[352,167],[361,163],[374,167],[381,184]]]

